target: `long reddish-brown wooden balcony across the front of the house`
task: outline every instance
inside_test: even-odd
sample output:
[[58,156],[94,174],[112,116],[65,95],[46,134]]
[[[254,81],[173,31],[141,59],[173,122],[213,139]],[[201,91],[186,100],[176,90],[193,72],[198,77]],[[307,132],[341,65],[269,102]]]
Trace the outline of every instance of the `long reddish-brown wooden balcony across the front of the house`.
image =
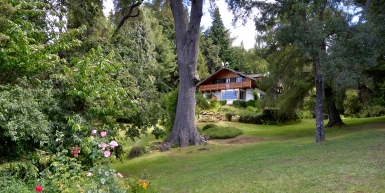
[[199,90],[201,92],[215,92],[220,90],[228,90],[228,89],[247,89],[254,88],[253,82],[230,82],[223,84],[210,84],[210,85],[199,85]]

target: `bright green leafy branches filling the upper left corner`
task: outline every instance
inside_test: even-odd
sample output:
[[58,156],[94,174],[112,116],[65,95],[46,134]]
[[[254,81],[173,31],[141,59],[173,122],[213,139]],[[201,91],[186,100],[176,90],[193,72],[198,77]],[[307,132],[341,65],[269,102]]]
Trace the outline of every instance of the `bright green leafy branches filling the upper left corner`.
[[[0,83],[15,83],[20,77],[41,75],[43,71],[60,65],[59,51],[78,46],[83,29],[76,29],[47,37],[39,22],[46,15],[48,5],[36,1],[1,1],[6,13],[0,18]],[[47,23],[44,25],[48,25]],[[55,27],[54,24],[51,24]],[[44,28],[45,29],[45,28]],[[49,44],[46,42],[50,41]]]

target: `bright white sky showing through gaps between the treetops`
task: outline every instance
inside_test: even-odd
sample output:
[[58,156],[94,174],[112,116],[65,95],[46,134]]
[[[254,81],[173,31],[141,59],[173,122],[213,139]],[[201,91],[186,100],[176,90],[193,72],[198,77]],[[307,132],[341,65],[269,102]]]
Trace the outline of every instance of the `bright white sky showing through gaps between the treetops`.
[[[108,12],[113,8],[112,0],[103,0],[104,1],[104,13],[107,15]],[[232,38],[236,38],[233,42],[233,46],[239,46],[241,45],[241,42],[243,41],[243,45],[246,50],[249,50],[250,48],[254,47],[255,44],[255,26],[254,22],[250,19],[245,26],[242,24],[238,24],[235,27],[232,25],[232,19],[233,15],[232,13],[227,10],[227,5],[224,0],[219,0],[216,2],[217,6],[219,8],[219,12],[222,17],[223,24],[225,25],[226,29],[229,29],[231,34],[230,36]],[[201,26],[204,26],[205,29],[207,29],[209,26],[211,26],[211,16],[208,12],[208,0],[205,0],[205,4],[203,6],[203,17],[201,20]]]

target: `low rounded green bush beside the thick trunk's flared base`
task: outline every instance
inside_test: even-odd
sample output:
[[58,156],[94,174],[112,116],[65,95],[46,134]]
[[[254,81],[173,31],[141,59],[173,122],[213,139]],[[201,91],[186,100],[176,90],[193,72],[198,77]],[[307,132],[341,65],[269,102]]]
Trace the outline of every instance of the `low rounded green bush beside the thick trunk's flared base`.
[[238,135],[242,135],[243,131],[235,127],[211,127],[205,131],[202,131],[202,134],[205,134],[210,137],[210,139],[228,139],[234,138]]

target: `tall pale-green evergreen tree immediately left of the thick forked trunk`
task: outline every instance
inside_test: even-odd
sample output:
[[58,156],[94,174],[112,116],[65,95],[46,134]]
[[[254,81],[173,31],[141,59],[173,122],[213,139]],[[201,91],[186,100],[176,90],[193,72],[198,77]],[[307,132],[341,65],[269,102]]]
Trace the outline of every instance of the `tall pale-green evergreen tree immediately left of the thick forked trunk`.
[[132,105],[124,110],[118,121],[129,123],[126,135],[131,138],[146,133],[164,113],[157,102],[160,98],[157,86],[162,81],[158,73],[163,73],[160,68],[164,67],[157,63],[156,35],[151,28],[151,17],[148,17],[151,13],[145,8],[142,13],[126,21],[111,42],[116,59],[123,64],[117,78],[130,93]]

